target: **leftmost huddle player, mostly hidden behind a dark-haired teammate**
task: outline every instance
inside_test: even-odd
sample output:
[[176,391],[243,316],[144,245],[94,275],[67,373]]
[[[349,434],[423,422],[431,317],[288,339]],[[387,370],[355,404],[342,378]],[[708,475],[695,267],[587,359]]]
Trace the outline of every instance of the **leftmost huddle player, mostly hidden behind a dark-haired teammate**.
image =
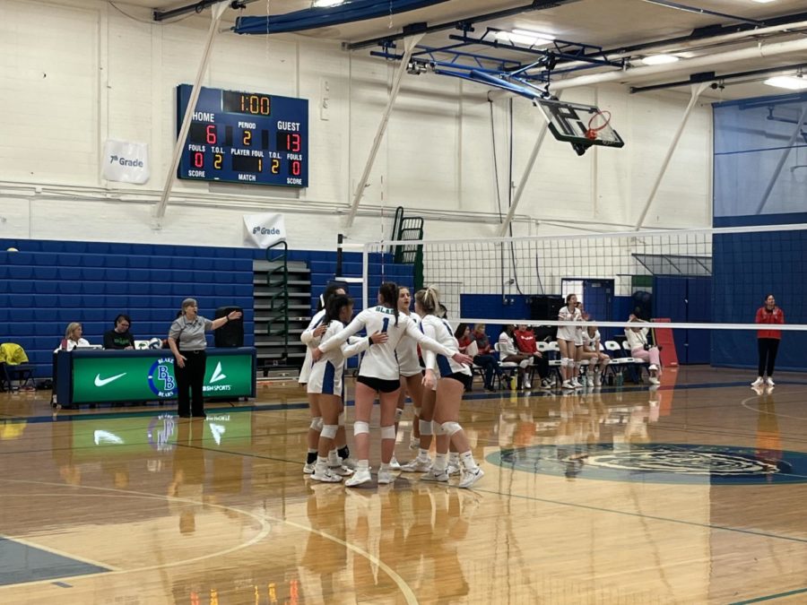
[[[345,294],[344,288],[338,283],[332,283],[327,288],[322,296],[319,298],[319,310],[317,314],[311,318],[308,328],[300,334],[299,340],[306,345],[306,359],[303,361],[302,367],[299,370],[298,382],[300,385],[308,383],[308,374],[311,371],[311,366],[314,360],[311,359],[311,350],[314,350],[319,344],[322,335],[325,333],[327,324],[323,324],[325,317],[325,306],[328,301],[337,294]],[[319,443],[319,432],[323,427],[322,412],[314,398],[308,395],[308,410],[311,413],[311,423],[308,427],[308,454],[306,455],[306,463],[303,466],[303,473],[310,475],[314,472],[314,463],[317,462],[317,447]],[[331,466],[335,469],[342,466],[342,462],[348,460],[351,455],[350,449],[347,446],[347,440],[344,434],[344,416],[340,418],[339,430],[336,432],[334,440],[336,449],[330,454]],[[339,459],[342,459],[340,461]]]

